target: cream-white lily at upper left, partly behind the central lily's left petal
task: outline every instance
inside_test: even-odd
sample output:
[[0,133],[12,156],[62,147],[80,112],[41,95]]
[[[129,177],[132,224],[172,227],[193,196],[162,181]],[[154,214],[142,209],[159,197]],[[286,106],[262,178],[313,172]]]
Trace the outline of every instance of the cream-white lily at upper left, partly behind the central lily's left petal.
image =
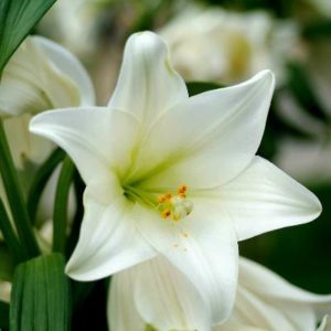
[[4,67],[0,84],[0,116],[19,169],[40,163],[53,148],[29,132],[32,114],[51,108],[95,104],[90,79],[74,55],[41,36],[30,36]]

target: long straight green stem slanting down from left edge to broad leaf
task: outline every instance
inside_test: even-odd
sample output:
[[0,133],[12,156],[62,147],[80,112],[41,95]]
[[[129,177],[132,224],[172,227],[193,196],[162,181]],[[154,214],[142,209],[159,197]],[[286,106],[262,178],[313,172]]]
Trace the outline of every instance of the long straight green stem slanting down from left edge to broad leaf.
[[3,122],[0,119],[0,173],[21,244],[29,257],[40,254],[25,206],[22,189],[9,150]]

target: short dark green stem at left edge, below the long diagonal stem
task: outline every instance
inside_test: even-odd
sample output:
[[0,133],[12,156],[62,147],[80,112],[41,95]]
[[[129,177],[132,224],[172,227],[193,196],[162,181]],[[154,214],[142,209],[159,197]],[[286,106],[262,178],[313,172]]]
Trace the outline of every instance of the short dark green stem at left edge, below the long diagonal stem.
[[28,258],[26,254],[22,249],[22,246],[17,237],[17,234],[15,234],[13,227],[12,227],[12,224],[9,220],[9,216],[6,212],[4,204],[1,199],[0,199],[0,229],[4,237],[6,245],[8,246],[9,250],[11,252],[13,260],[17,264],[25,260]]

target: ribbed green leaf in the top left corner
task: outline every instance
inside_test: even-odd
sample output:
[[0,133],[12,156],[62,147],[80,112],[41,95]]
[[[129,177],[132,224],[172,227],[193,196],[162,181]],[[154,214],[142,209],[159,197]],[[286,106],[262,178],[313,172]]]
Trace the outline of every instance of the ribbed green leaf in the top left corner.
[[0,0],[0,73],[56,0]]

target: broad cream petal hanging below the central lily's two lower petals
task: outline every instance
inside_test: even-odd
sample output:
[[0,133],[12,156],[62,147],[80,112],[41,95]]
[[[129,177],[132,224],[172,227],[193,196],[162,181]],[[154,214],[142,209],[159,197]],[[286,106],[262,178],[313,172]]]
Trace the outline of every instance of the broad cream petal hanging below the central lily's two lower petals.
[[167,259],[157,257],[132,269],[135,302],[145,321],[164,331],[211,330],[209,312],[201,296]]

